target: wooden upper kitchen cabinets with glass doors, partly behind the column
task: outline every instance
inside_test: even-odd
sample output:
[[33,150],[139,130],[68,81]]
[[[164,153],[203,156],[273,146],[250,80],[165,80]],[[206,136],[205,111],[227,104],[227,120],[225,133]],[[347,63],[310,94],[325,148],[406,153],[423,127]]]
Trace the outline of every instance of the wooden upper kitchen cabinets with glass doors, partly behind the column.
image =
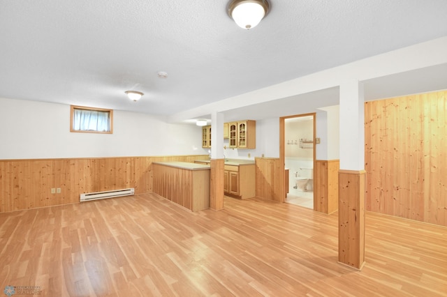
[[[230,148],[256,148],[256,121],[223,123],[223,139]],[[202,127],[202,147],[211,147],[211,126]]]

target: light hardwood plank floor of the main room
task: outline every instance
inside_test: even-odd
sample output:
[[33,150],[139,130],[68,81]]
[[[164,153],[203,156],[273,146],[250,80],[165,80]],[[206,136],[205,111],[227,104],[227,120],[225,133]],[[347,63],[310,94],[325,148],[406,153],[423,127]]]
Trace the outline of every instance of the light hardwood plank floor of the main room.
[[0,289],[41,296],[447,296],[447,228],[367,213],[366,266],[337,264],[337,213],[135,195],[0,214]]

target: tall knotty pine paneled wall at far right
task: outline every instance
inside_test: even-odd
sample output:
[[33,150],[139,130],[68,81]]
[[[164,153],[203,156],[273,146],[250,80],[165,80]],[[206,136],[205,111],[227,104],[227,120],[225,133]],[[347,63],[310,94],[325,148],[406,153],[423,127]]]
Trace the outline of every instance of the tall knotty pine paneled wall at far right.
[[447,91],[365,103],[366,209],[447,226]]

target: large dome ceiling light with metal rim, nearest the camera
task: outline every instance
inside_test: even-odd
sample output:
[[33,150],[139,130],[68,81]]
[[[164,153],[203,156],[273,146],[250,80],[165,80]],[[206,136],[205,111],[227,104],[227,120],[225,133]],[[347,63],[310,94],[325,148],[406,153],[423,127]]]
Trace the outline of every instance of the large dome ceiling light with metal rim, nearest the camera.
[[265,15],[270,5],[267,0],[231,0],[228,15],[242,29],[254,28]]

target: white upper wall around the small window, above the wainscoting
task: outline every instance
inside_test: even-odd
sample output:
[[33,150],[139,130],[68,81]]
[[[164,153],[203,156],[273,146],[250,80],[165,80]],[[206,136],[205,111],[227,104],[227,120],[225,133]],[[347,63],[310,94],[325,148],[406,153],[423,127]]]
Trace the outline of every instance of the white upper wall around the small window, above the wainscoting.
[[[113,113],[113,134],[70,132],[70,105],[0,98],[0,160],[202,154],[201,128]],[[200,149],[199,149],[200,148]]]

